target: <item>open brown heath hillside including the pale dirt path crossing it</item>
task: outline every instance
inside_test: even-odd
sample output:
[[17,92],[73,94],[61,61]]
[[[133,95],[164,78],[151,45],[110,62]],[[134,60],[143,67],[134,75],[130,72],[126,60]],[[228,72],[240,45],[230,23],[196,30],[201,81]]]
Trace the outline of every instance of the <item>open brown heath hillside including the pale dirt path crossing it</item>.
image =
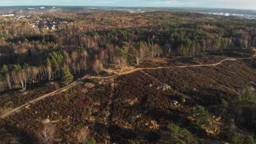
[[[242,137],[253,135],[254,53],[224,49],[205,56],[155,58],[139,64],[133,73],[112,71],[108,75],[119,74],[85,79],[1,119],[0,143],[35,143],[42,122],[56,126],[55,141],[62,143],[77,143],[77,131],[83,127],[89,127],[98,143],[176,143],[166,139],[170,123],[189,130],[199,143],[228,142],[234,131]],[[44,93],[58,88],[51,87]],[[1,101],[8,94],[22,96],[5,99],[1,106],[25,104],[33,91],[42,90],[39,86],[3,93]],[[26,100],[18,103],[19,98]],[[209,127],[190,114],[196,105],[210,113]]]

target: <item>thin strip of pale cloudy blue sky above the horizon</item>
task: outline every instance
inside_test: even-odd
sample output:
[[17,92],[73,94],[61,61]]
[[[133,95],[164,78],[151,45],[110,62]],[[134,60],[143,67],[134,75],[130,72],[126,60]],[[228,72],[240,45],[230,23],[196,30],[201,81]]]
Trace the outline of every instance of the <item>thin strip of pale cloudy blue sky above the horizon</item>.
[[206,7],[256,9],[256,0],[0,0],[9,5],[72,5],[117,7]]

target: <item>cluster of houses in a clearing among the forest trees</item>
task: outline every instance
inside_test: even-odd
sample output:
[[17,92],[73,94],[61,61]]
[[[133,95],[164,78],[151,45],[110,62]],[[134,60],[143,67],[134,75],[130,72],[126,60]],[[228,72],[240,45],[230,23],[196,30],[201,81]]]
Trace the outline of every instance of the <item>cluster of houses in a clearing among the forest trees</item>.
[[59,26],[59,20],[43,20],[43,21],[35,21],[35,22],[27,22],[32,28],[39,29],[57,29]]

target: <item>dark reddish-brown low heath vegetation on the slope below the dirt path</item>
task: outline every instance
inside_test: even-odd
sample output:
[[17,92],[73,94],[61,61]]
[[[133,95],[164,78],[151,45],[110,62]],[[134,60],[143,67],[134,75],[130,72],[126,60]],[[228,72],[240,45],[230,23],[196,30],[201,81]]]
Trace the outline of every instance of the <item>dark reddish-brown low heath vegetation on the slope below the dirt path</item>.
[[[203,60],[202,57],[196,57],[194,62],[185,59],[181,58],[181,61],[195,63]],[[215,58],[205,59],[205,63],[211,63]],[[78,141],[74,131],[86,125],[85,131],[90,129],[90,135],[101,143],[123,143],[129,139],[141,143],[168,143],[162,136],[169,123],[179,124],[203,139],[223,139],[223,135],[229,133],[222,129],[224,125],[229,128],[235,123],[230,123],[232,117],[222,115],[214,107],[219,106],[221,99],[234,101],[241,88],[254,86],[251,83],[255,81],[254,61],[246,59],[226,61],[217,66],[145,69],[121,75],[114,81],[80,82],[65,92],[38,101],[30,109],[22,109],[16,115],[4,118],[0,124],[15,137],[20,137],[20,141],[34,141],[33,136],[28,138],[26,135],[36,134],[36,130],[42,127],[40,121],[45,118],[56,125],[62,142]],[[173,62],[173,65],[178,64]],[[231,69],[230,64],[235,69]],[[180,103],[182,95],[185,101]],[[193,119],[188,113],[198,104],[210,112],[212,125],[207,128],[209,134],[190,125]],[[216,119],[219,115],[222,118]],[[6,141],[6,137],[8,135],[3,135],[0,141]]]

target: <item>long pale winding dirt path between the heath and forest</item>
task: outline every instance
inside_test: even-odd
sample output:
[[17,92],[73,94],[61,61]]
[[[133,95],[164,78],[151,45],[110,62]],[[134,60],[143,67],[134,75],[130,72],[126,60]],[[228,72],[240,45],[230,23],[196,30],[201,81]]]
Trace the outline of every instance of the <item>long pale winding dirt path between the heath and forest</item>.
[[224,61],[236,61],[236,60],[238,60],[238,59],[251,59],[251,58],[255,58],[255,56],[253,56],[253,57],[248,57],[248,58],[226,58],[226,59],[223,59],[222,61],[220,61],[220,62],[218,62],[218,63],[214,63],[214,64],[200,64],[200,65],[174,66],[174,67],[157,67],[157,68],[136,68],[136,69],[133,69],[133,70],[130,70],[130,71],[125,71],[125,72],[120,73],[120,74],[117,74],[117,75],[106,76],[106,77],[87,75],[87,76],[84,76],[84,77],[83,77],[82,79],[80,79],[79,81],[75,81],[75,82],[73,82],[73,83],[67,85],[66,87],[62,87],[62,88],[60,88],[60,89],[57,89],[57,90],[54,91],[54,92],[48,93],[48,94],[46,94],[46,95],[43,95],[42,97],[39,97],[39,98],[37,98],[37,99],[34,99],[34,100],[32,100],[32,101],[30,101],[30,102],[24,104],[24,105],[21,105],[21,106],[17,107],[16,109],[13,109],[13,110],[11,110],[11,111],[5,113],[4,115],[2,115],[2,116],[0,117],[0,119],[3,119],[3,118],[5,118],[5,117],[7,117],[7,116],[9,116],[9,115],[11,115],[11,114],[13,114],[13,113],[15,113],[15,112],[18,112],[18,111],[21,110],[22,108],[24,108],[24,107],[26,107],[26,106],[29,106],[29,105],[31,105],[31,104],[33,104],[33,103],[36,103],[36,102],[39,101],[39,100],[42,100],[42,99],[47,98],[47,97],[50,97],[51,95],[54,95],[54,94],[56,94],[56,93],[58,93],[58,92],[61,92],[61,91],[65,90],[65,89],[71,87],[71,86],[74,86],[74,85],[76,85],[76,84],[77,84],[78,82],[80,82],[80,81],[83,81],[83,80],[85,80],[85,79],[90,79],[90,78],[92,78],[92,77],[94,77],[94,78],[96,78],[96,79],[109,79],[109,78],[113,78],[113,77],[117,77],[117,76],[121,76],[121,75],[130,74],[130,73],[133,73],[133,72],[135,72],[135,71],[143,70],[143,69],[189,68],[189,67],[216,66],[216,65],[218,65],[218,64],[223,63]]

